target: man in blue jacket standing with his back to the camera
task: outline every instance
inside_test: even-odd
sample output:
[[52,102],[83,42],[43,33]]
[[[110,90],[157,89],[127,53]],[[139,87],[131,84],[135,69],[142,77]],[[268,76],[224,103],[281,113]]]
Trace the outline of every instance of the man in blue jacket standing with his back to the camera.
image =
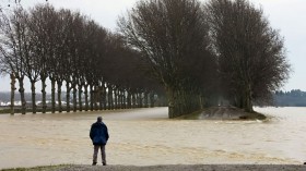
[[98,117],[97,121],[92,124],[90,136],[94,145],[93,166],[97,163],[98,148],[101,148],[102,163],[106,166],[105,145],[109,136],[107,126],[102,122],[102,117]]

